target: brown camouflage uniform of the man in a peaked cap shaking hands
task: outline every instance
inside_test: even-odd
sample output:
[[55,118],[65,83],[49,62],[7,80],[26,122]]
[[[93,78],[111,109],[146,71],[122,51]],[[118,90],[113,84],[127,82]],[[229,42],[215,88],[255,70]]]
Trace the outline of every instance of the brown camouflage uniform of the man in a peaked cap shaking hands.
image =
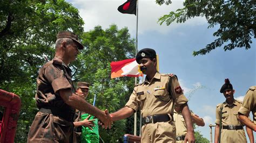
[[58,94],[61,89],[71,89],[75,92],[70,68],[55,58],[39,70],[35,96],[39,112],[30,127],[28,142],[72,141],[75,111],[65,104]]

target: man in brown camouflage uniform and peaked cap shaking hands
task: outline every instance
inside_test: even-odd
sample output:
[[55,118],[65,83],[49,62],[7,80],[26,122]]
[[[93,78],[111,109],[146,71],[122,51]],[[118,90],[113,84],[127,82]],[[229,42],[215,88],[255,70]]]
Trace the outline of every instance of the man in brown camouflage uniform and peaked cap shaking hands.
[[84,46],[70,31],[59,31],[55,58],[45,63],[37,78],[36,104],[39,111],[30,127],[28,142],[72,142],[75,109],[90,113],[111,127],[107,110],[101,111],[75,94],[69,63]]

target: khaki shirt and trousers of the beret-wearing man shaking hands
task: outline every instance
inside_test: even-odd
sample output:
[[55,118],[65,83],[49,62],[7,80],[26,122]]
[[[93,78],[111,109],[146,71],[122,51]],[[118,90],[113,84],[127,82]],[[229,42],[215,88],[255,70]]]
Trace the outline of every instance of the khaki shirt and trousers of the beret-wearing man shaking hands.
[[[169,90],[168,83],[171,82]],[[173,97],[170,97],[172,91]],[[172,121],[173,99],[177,106],[187,103],[176,76],[156,73],[151,81],[134,87],[125,106],[137,111],[140,108],[142,117],[169,114],[170,121],[145,124],[142,127],[142,142],[176,142],[176,127]]]

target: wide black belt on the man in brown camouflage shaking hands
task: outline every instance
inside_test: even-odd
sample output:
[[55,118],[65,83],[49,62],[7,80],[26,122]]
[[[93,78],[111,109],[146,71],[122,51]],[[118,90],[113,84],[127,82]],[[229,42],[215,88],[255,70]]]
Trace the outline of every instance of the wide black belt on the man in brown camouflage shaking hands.
[[55,108],[52,107],[51,109],[48,108],[41,108],[39,109],[40,112],[43,113],[50,113],[54,116],[58,116],[63,118],[66,121],[73,121],[74,120],[74,116],[75,116],[75,112],[72,110],[67,110],[67,109],[61,109],[61,108]]

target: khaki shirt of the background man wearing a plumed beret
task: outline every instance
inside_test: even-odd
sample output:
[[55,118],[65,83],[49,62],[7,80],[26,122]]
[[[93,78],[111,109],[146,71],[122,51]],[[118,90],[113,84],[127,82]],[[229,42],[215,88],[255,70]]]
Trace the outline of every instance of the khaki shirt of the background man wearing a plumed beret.
[[[240,106],[242,105],[242,102],[234,100],[233,104],[231,106],[228,106],[227,102],[223,103],[223,110],[222,110],[222,124],[225,125],[235,125],[235,126],[241,126],[242,124],[238,120],[238,110]],[[221,104],[217,105],[216,108],[216,124],[220,124],[220,106]]]

